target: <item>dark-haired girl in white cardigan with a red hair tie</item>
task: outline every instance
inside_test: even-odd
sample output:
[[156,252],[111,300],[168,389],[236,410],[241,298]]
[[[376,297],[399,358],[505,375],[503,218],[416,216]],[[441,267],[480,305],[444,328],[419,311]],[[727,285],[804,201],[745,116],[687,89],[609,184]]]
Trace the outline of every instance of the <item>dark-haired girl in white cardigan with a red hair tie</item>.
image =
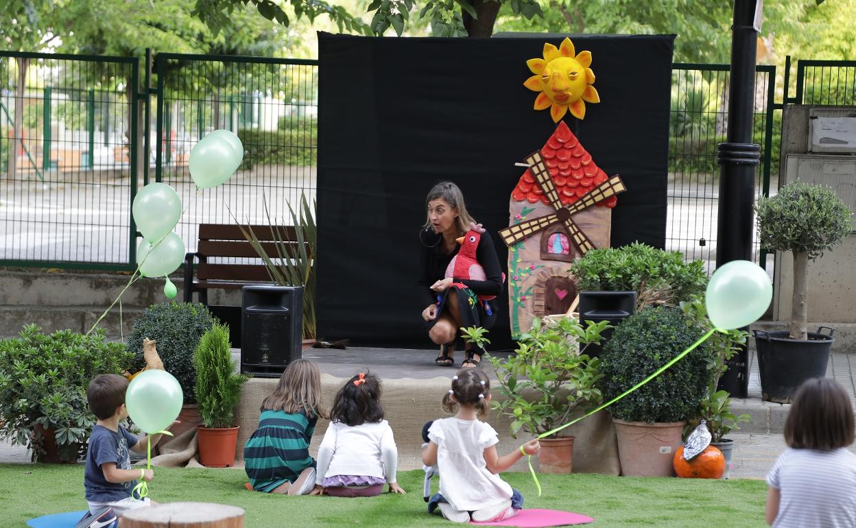
[[395,482],[398,449],[380,395],[380,380],[364,372],[336,393],[312,495],[371,497],[383,492],[384,483],[390,493],[405,493]]

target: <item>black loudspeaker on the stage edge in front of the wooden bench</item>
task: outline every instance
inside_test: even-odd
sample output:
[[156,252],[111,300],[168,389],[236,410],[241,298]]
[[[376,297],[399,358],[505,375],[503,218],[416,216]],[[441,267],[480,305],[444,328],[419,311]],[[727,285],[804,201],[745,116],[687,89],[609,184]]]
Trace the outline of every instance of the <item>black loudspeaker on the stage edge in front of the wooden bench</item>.
[[302,356],[302,329],[302,287],[241,288],[241,373],[280,377]]

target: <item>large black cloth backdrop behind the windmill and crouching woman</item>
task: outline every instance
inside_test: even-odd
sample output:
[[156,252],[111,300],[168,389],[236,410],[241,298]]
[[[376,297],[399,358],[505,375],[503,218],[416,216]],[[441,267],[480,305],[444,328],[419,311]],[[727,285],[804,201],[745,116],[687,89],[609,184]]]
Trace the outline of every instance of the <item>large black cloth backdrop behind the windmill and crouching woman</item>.
[[[455,181],[493,234],[503,268],[508,199],[556,124],[532,110],[526,60],[565,35],[493,39],[319,33],[318,335],[354,344],[433,347],[415,294],[425,194]],[[591,50],[601,103],[566,122],[627,192],[612,245],[663,247],[674,36],[571,36]],[[512,346],[507,288],[492,349]]]

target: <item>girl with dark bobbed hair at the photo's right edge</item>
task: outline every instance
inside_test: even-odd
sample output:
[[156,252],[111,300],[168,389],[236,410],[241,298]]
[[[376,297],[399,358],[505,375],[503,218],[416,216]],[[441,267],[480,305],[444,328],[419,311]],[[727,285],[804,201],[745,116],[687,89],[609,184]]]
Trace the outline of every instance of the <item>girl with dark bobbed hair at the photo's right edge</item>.
[[827,377],[802,384],[785,420],[788,449],[767,475],[767,523],[856,526],[853,407],[847,391]]

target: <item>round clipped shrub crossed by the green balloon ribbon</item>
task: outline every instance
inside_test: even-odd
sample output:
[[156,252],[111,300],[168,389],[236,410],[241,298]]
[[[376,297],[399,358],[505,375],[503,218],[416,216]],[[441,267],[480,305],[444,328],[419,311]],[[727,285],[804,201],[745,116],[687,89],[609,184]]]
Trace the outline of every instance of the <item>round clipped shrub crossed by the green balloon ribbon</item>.
[[[641,382],[704,335],[680,308],[656,306],[638,311],[615,328],[600,354],[603,400],[612,400]],[[694,416],[707,394],[712,360],[704,342],[651,382],[609,407],[627,422],[680,422]]]

